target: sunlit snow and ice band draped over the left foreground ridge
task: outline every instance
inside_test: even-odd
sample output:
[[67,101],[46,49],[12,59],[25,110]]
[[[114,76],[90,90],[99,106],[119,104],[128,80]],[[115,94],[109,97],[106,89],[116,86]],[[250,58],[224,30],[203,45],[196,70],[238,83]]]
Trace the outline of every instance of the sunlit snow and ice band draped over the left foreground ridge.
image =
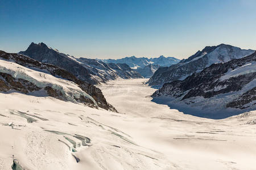
[[[2,78],[11,75],[13,79],[18,80],[17,83],[22,81],[31,83],[30,86],[34,86],[35,90],[37,91],[42,89],[46,90],[46,88],[49,87],[65,100],[74,102],[80,97],[85,97],[92,100],[93,104],[97,105],[93,97],[82,91],[81,88],[77,86],[77,84],[68,80],[56,78],[51,74],[31,70],[14,62],[4,61],[2,59],[0,59],[0,73],[2,74]],[[1,82],[5,83],[4,80]]]

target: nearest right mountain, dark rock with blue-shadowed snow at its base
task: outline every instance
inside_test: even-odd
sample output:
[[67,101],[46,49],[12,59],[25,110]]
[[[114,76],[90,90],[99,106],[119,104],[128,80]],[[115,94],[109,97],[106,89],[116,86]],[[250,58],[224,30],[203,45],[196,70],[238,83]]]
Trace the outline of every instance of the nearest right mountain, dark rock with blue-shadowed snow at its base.
[[165,83],[152,97],[184,113],[224,118],[256,109],[256,52]]

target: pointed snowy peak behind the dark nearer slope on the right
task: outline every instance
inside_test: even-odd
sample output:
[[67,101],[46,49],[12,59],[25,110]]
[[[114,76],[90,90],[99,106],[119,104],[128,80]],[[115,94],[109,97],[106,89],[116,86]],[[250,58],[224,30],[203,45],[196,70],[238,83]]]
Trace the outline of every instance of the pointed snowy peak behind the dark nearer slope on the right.
[[161,87],[164,83],[183,80],[193,73],[198,73],[213,63],[224,63],[231,59],[242,58],[254,53],[254,50],[244,50],[236,46],[220,44],[206,46],[188,59],[183,59],[176,65],[161,67],[148,81],[150,86]]

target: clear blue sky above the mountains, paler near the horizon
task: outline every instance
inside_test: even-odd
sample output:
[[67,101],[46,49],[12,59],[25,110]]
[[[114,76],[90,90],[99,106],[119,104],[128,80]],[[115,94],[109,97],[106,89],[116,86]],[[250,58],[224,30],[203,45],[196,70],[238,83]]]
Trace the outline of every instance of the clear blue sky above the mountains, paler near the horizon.
[[44,42],[76,57],[187,58],[221,43],[256,49],[255,0],[0,1],[0,49]]

